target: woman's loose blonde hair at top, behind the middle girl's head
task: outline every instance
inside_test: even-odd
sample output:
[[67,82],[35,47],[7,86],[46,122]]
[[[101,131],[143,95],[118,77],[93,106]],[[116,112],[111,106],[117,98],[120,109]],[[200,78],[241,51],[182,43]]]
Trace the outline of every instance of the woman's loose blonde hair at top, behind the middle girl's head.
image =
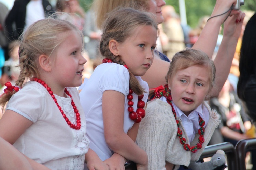
[[147,11],[149,0],[94,0],[93,10],[96,15],[96,24],[102,28],[106,15],[117,7],[128,7]]

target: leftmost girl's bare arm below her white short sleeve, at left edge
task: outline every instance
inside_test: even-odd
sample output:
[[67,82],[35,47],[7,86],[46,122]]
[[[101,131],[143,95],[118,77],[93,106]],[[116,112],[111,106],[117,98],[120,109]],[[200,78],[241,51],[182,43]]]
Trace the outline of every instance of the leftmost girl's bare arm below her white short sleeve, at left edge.
[[[32,124],[32,121],[28,120],[22,115],[12,110],[6,110],[2,118],[0,119],[0,137],[2,137],[10,144],[13,144]],[[25,158],[30,163],[33,169],[48,170],[47,167],[37,163],[36,161],[28,158],[27,156],[25,156]]]

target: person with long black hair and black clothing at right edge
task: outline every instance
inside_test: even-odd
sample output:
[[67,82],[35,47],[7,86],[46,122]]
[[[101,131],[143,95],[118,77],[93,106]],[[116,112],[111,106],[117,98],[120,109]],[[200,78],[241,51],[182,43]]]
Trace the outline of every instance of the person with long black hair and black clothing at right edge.
[[248,21],[243,35],[237,84],[239,98],[245,102],[247,114],[256,121],[255,93],[256,93],[256,14]]

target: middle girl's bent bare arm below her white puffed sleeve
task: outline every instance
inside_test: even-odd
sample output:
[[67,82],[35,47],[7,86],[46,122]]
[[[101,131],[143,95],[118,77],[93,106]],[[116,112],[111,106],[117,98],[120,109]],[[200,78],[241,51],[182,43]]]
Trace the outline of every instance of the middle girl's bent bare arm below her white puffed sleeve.
[[102,96],[102,112],[105,140],[110,149],[137,163],[137,169],[147,169],[147,154],[124,132],[125,96],[114,90],[106,90]]

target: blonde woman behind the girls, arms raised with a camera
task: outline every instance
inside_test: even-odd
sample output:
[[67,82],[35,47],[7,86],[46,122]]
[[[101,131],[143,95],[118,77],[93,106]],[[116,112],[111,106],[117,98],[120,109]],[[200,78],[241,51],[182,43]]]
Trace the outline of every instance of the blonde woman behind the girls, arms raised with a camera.
[[[234,3],[236,3],[236,0],[217,0],[211,16],[216,16],[228,11]],[[134,7],[152,12],[156,15],[157,22],[161,23],[163,22],[161,7],[165,4],[166,3],[164,0],[95,0],[94,10],[97,15],[96,21],[99,27],[104,21],[106,13],[119,6]],[[243,18],[245,16],[245,14],[241,13],[241,11],[232,11],[231,14],[234,15],[232,17],[237,17],[238,22],[230,22],[227,25],[228,29],[226,28],[224,30],[223,41],[214,60],[217,70],[216,77],[218,78],[215,82],[216,88],[212,91],[213,96],[218,95],[227,79],[239,36],[237,30],[241,29]],[[200,49],[211,57],[216,46],[220,26],[227,16],[228,14],[226,13],[210,19],[205,25],[205,28],[203,29],[198,41],[192,48]],[[144,81],[147,81],[150,88],[155,88],[166,83],[165,76],[168,71],[169,64],[169,62],[165,62],[160,60],[158,57],[155,57],[151,68],[142,77]]]

